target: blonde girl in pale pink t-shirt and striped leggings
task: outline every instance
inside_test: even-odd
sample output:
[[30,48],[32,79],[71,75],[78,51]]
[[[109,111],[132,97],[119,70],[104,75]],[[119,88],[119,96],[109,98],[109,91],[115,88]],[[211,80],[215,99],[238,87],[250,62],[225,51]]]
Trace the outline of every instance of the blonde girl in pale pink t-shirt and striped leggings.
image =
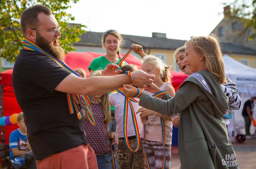
[[[153,83],[160,89],[166,90],[170,96],[175,95],[175,90],[170,83],[169,66],[166,66],[163,60],[158,57],[148,55],[142,58],[142,70],[148,74],[154,74]],[[142,92],[154,95],[154,93],[142,90]],[[145,152],[148,157],[151,168],[162,168],[163,159],[165,156],[165,168],[170,168],[171,164],[171,144],[172,144],[172,121],[170,116],[166,116],[165,123],[165,146],[163,151],[163,138],[161,118],[163,115],[144,107],[138,112],[143,112],[141,116],[142,123],[145,124],[141,132],[141,137],[144,138],[144,130],[146,130],[146,138],[144,144]],[[173,120],[178,121],[179,116],[174,116]],[[164,152],[164,153],[163,153]]]

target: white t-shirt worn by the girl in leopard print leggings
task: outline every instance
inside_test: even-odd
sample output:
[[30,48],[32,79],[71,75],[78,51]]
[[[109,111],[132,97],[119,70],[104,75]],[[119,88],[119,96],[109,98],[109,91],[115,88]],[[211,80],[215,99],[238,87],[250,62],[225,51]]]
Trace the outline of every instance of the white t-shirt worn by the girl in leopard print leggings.
[[[109,94],[108,97],[110,103],[115,107],[115,119],[117,121],[117,126],[116,126],[116,134],[118,138],[124,137],[123,135],[123,108],[124,108],[124,99],[125,97],[120,94],[119,92],[113,92]],[[137,101],[139,101],[139,98],[136,98]],[[133,105],[134,112],[136,113],[141,106],[139,106],[139,103],[135,103],[131,101]],[[142,131],[143,124],[141,122],[139,113],[136,114],[136,121],[138,124],[139,132]],[[135,136],[135,130],[133,127],[133,119],[132,119],[132,113],[130,106],[128,104],[128,117],[127,117],[127,135],[128,137],[130,136]]]

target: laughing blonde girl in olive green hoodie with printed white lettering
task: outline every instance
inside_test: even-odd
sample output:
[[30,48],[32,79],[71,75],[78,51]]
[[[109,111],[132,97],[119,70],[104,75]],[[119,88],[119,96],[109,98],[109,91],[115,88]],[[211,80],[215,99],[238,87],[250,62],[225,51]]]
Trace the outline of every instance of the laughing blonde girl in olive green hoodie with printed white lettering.
[[[239,168],[222,118],[228,98],[219,86],[225,83],[225,70],[218,39],[214,35],[198,36],[185,46],[184,61],[195,73],[187,77],[174,97],[165,94],[159,99],[142,93],[139,105],[169,116],[180,112],[181,168]],[[161,91],[154,84],[146,90]],[[132,97],[137,91],[125,85],[124,93]]]

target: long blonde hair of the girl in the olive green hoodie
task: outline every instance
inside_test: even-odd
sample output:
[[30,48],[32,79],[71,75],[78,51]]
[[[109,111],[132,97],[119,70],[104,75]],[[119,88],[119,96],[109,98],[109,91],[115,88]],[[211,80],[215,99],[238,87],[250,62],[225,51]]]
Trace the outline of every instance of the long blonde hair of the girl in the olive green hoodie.
[[197,36],[185,43],[192,45],[197,54],[205,56],[205,67],[218,79],[219,83],[227,83],[225,80],[224,60],[217,36]]

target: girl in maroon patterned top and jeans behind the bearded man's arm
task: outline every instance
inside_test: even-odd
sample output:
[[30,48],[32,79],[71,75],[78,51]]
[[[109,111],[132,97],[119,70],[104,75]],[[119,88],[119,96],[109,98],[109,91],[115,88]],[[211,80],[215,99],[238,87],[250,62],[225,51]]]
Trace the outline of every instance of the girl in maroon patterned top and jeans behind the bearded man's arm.
[[[101,76],[101,71],[91,73],[90,77],[92,76]],[[115,144],[118,144],[118,138],[115,132],[108,131],[108,123],[111,121],[108,93],[92,97],[89,109],[96,119],[96,126],[92,126],[88,118],[84,117],[84,132],[87,141],[95,152],[98,168],[112,168],[112,148],[108,143],[108,138],[113,138]]]

